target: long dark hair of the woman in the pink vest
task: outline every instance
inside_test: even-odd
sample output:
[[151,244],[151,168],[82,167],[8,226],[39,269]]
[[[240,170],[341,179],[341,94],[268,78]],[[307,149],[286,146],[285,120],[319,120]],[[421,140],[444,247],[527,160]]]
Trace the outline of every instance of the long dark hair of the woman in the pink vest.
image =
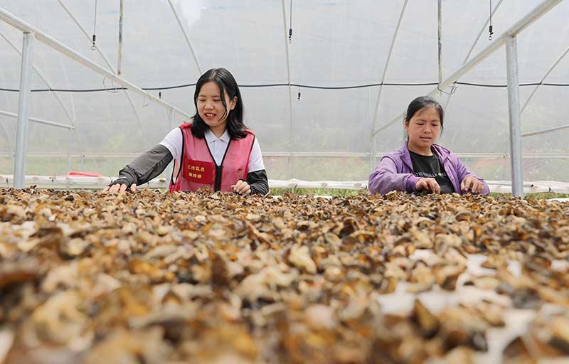
[[[219,96],[225,108],[223,117],[227,115],[229,137],[231,139],[244,138],[246,135],[245,129],[247,129],[247,127],[243,124],[243,98],[241,97],[241,92],[239,92],[237,81],[235,81],[233,75],[225,68],[212,68],[211,70],[207,70],[196,83],[196,92],[193,93],[193,105],[196,106],[196,114],[192,117],[193,124],[191,134],[196,138],[203,139],[203,135],[209,129],[208,124],[201,119],[198,112],[198,95],[203,84],[207,82],[216,82],[219,87]],[[233,110],[228,110],[227,103],[225,102],[225,92],[227,92],[230,100],[233,100],[233,97],[237,97],[237,103]]]

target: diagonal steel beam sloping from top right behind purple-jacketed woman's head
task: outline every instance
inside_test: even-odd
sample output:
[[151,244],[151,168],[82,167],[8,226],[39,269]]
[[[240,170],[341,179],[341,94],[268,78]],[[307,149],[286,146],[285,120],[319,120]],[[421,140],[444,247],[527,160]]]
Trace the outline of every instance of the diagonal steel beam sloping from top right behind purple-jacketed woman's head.
[[[508,38],[509,36],[516,36],[517,34],[519,34],[521,31],[523,31],[528,26],[530,26],[531,23],[538,20],[538,18],[541,18],[541,16],[547,14],[548,11],[550,11],[555,6],[557,6],[561,1],[563,1],[563,0],[543,0],[543,1],[541,1],[541,4],[536,6],[532,11],[529,12],[529,14],[527,14],[526,16],[521,18],[519,21],[517,21],[513,26],[511,26],[508,30],[506,30],[501,36],[499,36],[499,38],[494,40],[490,45],[488,45],[486,48],[481,50],[471,60],[469,60],[466,64],[464,64],[461,68],[459,68],[452,75],[450,75],[450,77],[447,77],[447,79],[445,81],[443,81],[442,84],[440,85],[440,88],[444,89],[445,87],[450,86],[452,83],[456,82],[460,77],[462,77],[466,73],[469,73],[469,71],[472,70],[472,68],[476,67],[479,63],[481,63],[483,60],[488,58],[489,55],[491,55],[496,50],[501,48],[501,46],[504,45],[504,43],[506,43],[506,38]],[[429,92],[428,96],[435,96],[437,94],[437,92],[439,92],[438,88],[439,87],[437,87],[434,90],[432,90],[431,92]],[[402,119],[404,116],[405,116],[405,113],[399,114],[397,117],[394,117],[393,119],[391,119],[390,122],[388,122],[387,124],[384,124],[383,126],[374,130],[373,134],[375,135],[378,132],[381,132],[381,130],[387,129],[388,127],[393,125],[395,122],[398,122],[400,119]]]

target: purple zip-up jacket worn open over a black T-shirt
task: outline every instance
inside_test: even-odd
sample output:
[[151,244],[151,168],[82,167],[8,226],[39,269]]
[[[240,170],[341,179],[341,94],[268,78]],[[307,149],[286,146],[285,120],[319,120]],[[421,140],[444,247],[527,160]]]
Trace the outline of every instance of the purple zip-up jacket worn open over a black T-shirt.
[[[467,176],[473,176],[484,183],[482,194],[487,195],[490,193],[486,181],[474,173],[470,173],[459,157],[452,154],[450,150],[438,144],[432,144],[431,150],[445,168],[445,172],[447,172],[455,192],[462,194],[460,183]],[[405,141],[402,147],[383,156],[376,170],[369,176],[368,188],[372,194],[385,194],[390,191],[407,191],[411,193],[416,192],[415,185],[420,179],[420,177],[413,174],[413,162]]]

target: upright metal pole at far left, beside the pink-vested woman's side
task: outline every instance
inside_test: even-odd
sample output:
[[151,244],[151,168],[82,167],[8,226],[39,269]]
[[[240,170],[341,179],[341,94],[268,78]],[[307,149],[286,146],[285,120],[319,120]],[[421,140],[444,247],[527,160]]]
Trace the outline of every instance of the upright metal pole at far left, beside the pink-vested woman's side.
[[28,115],[31,99],[33,39],[33,33],[23,33],[18,129],[16,132],[16,157],[14,160],[14,188],[23,188],[26,177],[26,144],[28,142]]

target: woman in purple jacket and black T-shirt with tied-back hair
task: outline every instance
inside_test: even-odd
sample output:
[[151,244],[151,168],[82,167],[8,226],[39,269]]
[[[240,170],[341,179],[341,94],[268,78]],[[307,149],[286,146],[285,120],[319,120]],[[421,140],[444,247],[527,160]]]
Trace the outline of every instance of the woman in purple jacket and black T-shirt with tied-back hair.
[[470,173],[448,149],[434,144],[442,132],[442,107],[432,97],[417,97],[407,108],[404,126],[408,140],[386,154],[369,176],[371,193],[482,193],[484,179]]

